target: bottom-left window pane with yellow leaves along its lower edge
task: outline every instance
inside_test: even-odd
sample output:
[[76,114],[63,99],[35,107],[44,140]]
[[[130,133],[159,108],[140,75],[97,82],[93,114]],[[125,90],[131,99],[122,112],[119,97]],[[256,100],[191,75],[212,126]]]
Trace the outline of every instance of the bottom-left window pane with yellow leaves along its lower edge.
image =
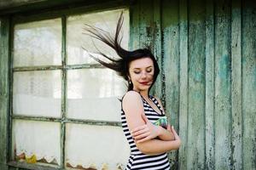
[[61,164],[61,123],[13,121],[12,156],[15,161]]

